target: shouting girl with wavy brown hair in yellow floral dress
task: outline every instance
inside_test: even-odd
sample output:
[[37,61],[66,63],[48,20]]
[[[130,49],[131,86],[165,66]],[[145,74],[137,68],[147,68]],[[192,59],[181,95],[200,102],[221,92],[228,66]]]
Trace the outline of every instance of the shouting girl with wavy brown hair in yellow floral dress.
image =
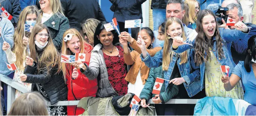
[[[205,87],[208,97],[232,97],[243,99],[244,92],[241,82],[232,90],[225,91],[221,82],[222,72],[220,65],[228,65],[231,75],[235,63],[231,56],[230,46],[233,40],[244,39],[249,32],[248,27],[243,22],[235,24],[237,30],[226,30],[218,28],[216,17],[213,12],[204,9],[198,14],[196,22],[196,32],[198,36],[194,43],[194,62],[200,65],[201,89]],[[253,28],[253,27],[252,27]],[[174,40],[173,49],[179,53],[189,48],[188,45],[182,45],[182,41]],[[181,46],[180,46],[181,45]],[[177,47],[179,46],[179,47]],[[205,86],[204,86],[205,78]]]

